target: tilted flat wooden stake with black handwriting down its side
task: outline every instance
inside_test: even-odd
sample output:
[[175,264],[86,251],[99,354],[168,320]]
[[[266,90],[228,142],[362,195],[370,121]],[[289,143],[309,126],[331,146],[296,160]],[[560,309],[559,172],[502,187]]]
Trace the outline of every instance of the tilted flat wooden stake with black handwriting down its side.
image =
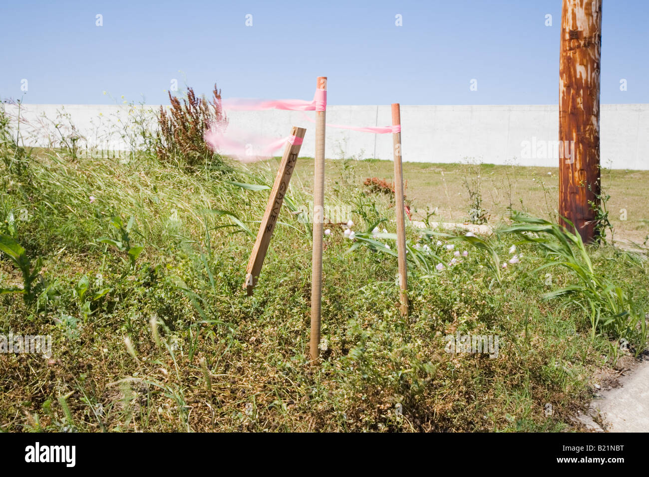
[[271,242],[273,230],[275,230],[277,217],[280,215],[284,195],[288,190],[288,184],[291,180],[291,175],[293,175],[293,169],[295,168],[295,162],[300,153],[300,147],[302,147],[302,139],[304,139],[305,133],[306,129],[293,127],[291,129],[291,136],[295,136],[295,143],[287,143],[286,149],[284,149],[284,156],[282,156],[282,162],[280,162],[280,168],[275,177],[275,184],[273,184],[271,196],[268,198],[266,212],[263,214],[262,223],[259,226],[257,239],[254,242],[254,247],[252,247],[252,253],[250,254],[250,260],[246,269],[243,287],[248,290],[248,296],[252,295],[252,289],[257,284],[259,274],[262,271],[263,259],[268,251],[268,245]]

